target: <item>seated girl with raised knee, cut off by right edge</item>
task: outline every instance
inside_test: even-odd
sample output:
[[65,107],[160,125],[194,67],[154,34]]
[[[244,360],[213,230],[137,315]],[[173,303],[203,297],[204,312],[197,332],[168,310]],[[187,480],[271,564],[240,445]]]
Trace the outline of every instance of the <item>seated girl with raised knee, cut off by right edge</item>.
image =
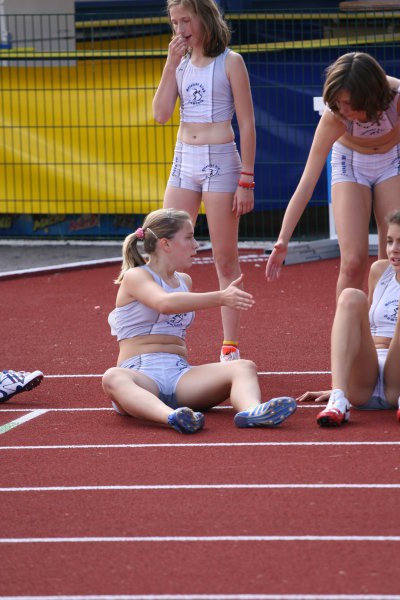
[[306,392],[298,400],[321,402],[322,426],[349,420],[358,409],[396,409],[400,420],[400,210],[387,217],[387,260],[374,262],[369,295],[354,288],[340,294],[332,326],[332,392]]

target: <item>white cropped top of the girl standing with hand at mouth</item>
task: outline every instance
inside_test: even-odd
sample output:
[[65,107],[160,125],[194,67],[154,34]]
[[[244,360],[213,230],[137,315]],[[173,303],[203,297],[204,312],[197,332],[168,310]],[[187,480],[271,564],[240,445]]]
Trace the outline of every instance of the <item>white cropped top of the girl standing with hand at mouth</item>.
[[229,48],[206,67],[192,65],[184,57],[176,69],[181,101],[180,116],[184,123],[229,121],[235,112],[231,84],[225,70]]

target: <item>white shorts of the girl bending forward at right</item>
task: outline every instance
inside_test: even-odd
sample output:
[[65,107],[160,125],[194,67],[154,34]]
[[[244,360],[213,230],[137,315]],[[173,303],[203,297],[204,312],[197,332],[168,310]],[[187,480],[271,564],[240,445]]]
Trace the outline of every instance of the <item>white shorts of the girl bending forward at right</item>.
[[372,188],[400,175],[400,144],[385,154],[361,154],[340,142],[332,146],[332,185],[353,182]]

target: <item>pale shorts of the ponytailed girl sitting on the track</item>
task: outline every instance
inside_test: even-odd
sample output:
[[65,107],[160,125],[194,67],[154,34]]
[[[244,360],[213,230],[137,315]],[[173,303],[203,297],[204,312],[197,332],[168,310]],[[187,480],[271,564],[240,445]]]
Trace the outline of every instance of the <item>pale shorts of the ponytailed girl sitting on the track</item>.
[[[124,360],[119,367],[134,369],[150,377],[158,386],[160,400],[171,408],[178,408],[175,396],[178,381],[192,368],[186,358],[168,352],[152,352],[132,356],[132,358]],[[117,412],[120,412],[114,403],[113,406]]]

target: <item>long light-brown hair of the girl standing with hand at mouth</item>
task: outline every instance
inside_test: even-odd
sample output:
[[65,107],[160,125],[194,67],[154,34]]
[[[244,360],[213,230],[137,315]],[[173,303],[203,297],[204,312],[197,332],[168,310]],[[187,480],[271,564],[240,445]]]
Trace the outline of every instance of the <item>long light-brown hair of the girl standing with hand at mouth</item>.
[[[214,0],[167,0],[167,12],[174,6],[182,6],[199,17],[203,29],[203,52],[205,56],[222,54],[231,40],[231,31]],[[170,25],[174,30],[171,19]]]

